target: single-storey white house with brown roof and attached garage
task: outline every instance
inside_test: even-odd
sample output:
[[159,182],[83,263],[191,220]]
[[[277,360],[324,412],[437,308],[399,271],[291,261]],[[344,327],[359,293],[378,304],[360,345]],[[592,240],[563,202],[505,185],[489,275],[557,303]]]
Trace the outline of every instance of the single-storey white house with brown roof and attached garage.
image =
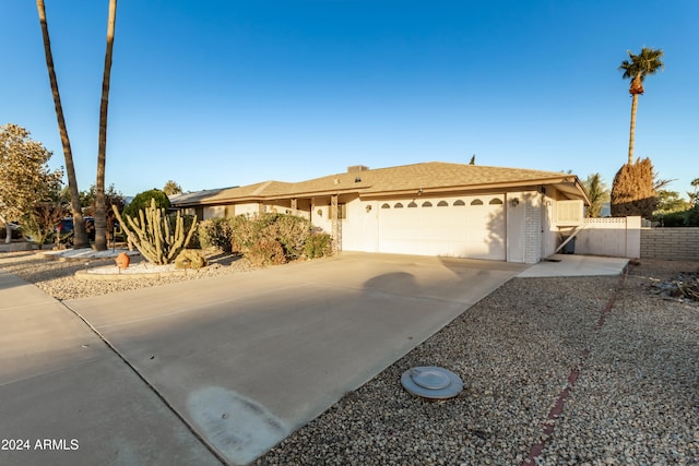
[[171,196],[199,218],[279,212],[304,216],[337,250],[536,263],[560,234],[582,224],[589,204],[574,175],[425,163],[300,182]]

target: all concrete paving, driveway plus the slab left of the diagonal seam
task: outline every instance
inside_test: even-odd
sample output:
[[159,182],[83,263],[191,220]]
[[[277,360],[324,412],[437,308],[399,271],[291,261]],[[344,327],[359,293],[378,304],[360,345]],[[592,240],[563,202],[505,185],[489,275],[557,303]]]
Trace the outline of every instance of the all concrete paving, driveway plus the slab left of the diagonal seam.
[[0,464],[247,464],[528,268],[343,253],[64,303],[0,272],[0,438],[29,440]]

